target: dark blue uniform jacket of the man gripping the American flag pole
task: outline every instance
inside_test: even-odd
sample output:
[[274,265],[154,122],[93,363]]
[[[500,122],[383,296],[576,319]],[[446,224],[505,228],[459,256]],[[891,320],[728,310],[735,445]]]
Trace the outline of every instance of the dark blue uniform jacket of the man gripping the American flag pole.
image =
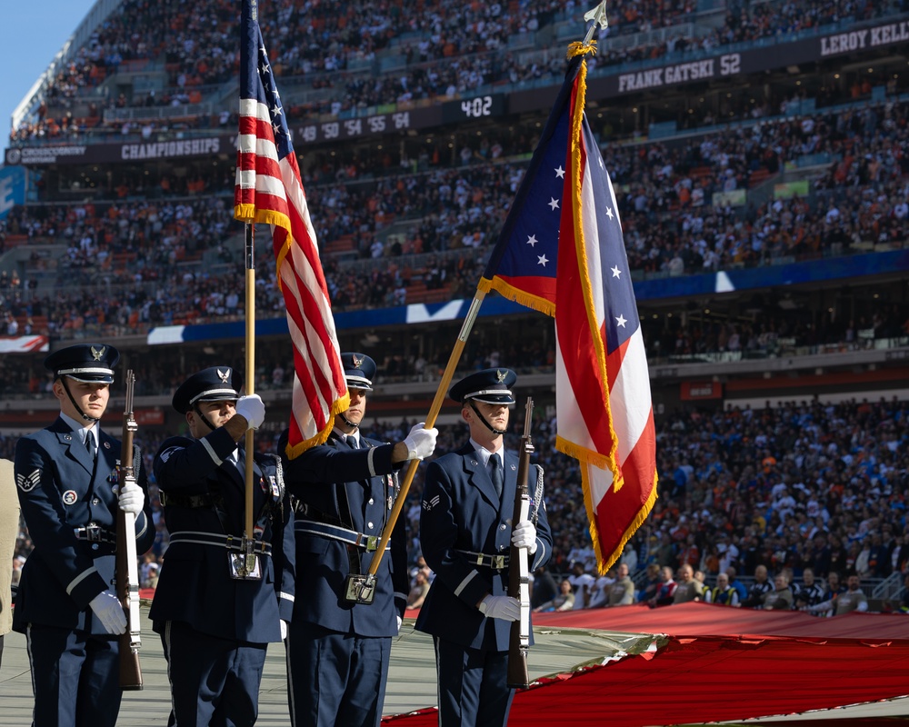
[[[175,533],[211,533],[243,538],[245,529],[244,475],[228,457],[236,443],[224,428],[208,433],[202,439],[171,437],[155,455],[155,478],[165,498],[175,499],[212,494],[223,498],[225,527],[215,506],[189,507],[165,504],[167,530]],[[280,483],[276,457],[256,454],[253,468],[254,523],[258,523],[266,503],[273,503],[272,487]],[[165,499],[166,502],[166,499]],[[274,558],[293,557],[293,547],[285,547],[290,530],[285,521],[290,517],[286,495],[274,505],[272,517],[265,522],[256,540],[273,546],[272,556],[258,555],[261,580],[236,580],[228,567],[225,544],[170,543],[165,552],[155,600],[149,613],[156,632],[163,632],[165,622],[188,623],[195,631],[222,639],[268,643],[281,641],[280,620],[289,620],[293,611],[293,565],[282,569],[285,580],[275,583]],[[204,539],[204,537],[200,537]]]

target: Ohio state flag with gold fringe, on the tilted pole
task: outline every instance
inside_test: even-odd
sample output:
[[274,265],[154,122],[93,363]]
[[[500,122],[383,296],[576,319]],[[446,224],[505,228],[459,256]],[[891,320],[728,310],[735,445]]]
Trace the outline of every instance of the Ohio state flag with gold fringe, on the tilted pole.
[[601,571],[656,499],[650,377],[613,185],[584,117],[592,45],[571,64],[480,281],[555,318],[556,447],[582,468]]

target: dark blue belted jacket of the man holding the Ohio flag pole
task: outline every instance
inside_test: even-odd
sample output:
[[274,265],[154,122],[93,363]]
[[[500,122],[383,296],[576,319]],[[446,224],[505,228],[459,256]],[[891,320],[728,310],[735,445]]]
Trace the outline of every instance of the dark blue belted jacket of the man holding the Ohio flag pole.
[[[361,436],[355,450],[332,433],[325,444],[285,462],[287,489],[302,505],[295,516],[295,580],[306,595],[296,600],[295,619],[359,636],[397,634],[395,615],[404,615],[409,590],[404,519],[395,523],[391,551],[379,563],[375,599],[369,604],[345,602],[345,579],[351,571],[346,544],[301,532],[309,519],[380,536],[396,494],[393,449],[393,444]],[[368,573],[374,554],[357,550],[360,573]]]

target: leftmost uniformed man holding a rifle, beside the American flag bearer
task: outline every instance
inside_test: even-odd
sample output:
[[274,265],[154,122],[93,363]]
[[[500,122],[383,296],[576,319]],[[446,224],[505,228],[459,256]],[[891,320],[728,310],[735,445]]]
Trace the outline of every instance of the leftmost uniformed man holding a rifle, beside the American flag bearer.
[[35,550],[22,568],[13,628],[25,632],[35,692],[33,724],[113,727],[122,691],[115,594],[116,509],[135,514],[136,552],[155,538],[145,468],[118,490],[120,442],[101,429],[120,354],[107,344],[62,348],[45,359],[60,416],[19,439],[15,483]]

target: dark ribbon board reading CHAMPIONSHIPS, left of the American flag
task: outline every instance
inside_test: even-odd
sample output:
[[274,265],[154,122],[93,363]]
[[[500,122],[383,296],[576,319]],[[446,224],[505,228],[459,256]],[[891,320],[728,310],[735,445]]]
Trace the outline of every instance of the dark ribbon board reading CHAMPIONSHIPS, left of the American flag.
[[66,144],[59,146],[22,146],[6,150],[6,164],[46,166],[55,164],[115,164],[144,162],[151,159],[179,159],[211,154],[234,154],[234,138],[229,135],[173,139],[165,142],[125,142],[120,144]]

